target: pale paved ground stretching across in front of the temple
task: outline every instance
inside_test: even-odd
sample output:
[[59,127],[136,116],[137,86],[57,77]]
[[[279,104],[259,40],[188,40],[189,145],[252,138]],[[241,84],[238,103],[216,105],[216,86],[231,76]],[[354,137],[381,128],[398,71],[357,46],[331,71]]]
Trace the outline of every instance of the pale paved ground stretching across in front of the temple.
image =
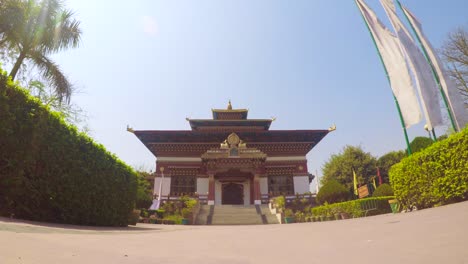
[[468,263],[468,202],[323,223],[128,229],[0,219],[0,263]]

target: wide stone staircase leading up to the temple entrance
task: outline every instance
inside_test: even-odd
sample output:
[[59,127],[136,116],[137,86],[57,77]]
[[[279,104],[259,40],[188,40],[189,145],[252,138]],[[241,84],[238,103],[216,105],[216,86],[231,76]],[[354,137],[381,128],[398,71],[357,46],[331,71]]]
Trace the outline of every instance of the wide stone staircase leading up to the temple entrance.
[[202,205],[197,225],[262,225],[278,224],[267,205]]

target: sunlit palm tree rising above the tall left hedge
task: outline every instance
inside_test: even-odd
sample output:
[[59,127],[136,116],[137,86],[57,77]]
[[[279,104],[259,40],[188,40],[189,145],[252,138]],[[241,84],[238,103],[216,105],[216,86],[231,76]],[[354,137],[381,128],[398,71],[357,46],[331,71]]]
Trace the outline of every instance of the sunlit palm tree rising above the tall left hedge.
[[69,100],[72,85],[49,55],[79,45],[80,22],[73,19],[73,12],[64,9],[61,0],[3,0],[0,17],[0,45],[18,54],[9,74],[11,78],[14,80],[20,67],[30,61],[54,88],[60,101]]

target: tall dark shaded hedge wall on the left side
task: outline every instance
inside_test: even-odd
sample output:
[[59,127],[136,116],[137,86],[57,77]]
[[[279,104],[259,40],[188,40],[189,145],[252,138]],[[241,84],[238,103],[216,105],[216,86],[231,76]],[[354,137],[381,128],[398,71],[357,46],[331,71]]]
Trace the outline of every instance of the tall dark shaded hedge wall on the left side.
[[125,226],[136,173],[0,74],[0,214]]

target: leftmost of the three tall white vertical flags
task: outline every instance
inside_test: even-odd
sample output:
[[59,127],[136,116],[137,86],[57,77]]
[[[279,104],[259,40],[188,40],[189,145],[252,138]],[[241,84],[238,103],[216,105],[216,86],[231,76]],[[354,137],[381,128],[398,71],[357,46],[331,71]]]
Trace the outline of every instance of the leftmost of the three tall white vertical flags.
[[400,105],[405,127],[408,128],[411,125],[419,123],[421,121],[421,111],[418,99],[414,92],[408,65],[400,49],[398,39],[380,22],[375,13],[363,0],[356,0],[356,4],[369,26],[377,49],[382,56],[390,80],[390,86]]

